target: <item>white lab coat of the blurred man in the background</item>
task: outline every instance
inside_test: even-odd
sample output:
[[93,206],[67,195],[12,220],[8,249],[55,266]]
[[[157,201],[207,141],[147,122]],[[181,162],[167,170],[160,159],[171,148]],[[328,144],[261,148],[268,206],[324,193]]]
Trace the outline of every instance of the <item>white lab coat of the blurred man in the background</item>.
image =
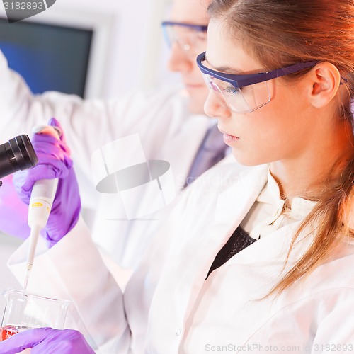
[[[186,99],[176,89],[135,92],[110,101],[83,101],[55,92],[33,96],[23,79],[8,69],[1,52],[0,96],[1,142],[20,134],[30,135],[35,125],[47,124],[53,116],[59,120],[72,150],[84,216],[93,229],[94,241],[116,263],[134,268],[167,210],[127,220],[117,194],[96,191],[91,154],[115,139],[138,134],[148,160],[171,164],[176,190],[180,190],[210,118],[190,115]],[[133,158],[137,152],[131,147],[125,154]],[[119,159],[122,156],[117,156]],[[97,210],[94,218],[91,210]]]

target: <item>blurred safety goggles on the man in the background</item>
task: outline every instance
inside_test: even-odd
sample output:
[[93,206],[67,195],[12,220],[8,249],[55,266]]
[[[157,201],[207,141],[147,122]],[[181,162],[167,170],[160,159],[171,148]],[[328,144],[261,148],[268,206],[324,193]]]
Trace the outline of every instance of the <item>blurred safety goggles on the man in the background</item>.
[[161,23],[164,37],[171,47],[174,42],[185,52],[193,55],[205,50],[207,43],[207,25],[164,21]]

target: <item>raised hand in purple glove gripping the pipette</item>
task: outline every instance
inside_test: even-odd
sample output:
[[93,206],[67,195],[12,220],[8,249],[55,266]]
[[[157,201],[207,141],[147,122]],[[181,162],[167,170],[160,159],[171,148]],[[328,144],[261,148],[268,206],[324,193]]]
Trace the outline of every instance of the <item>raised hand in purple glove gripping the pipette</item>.
[[60,139],[48,134],[33,135],[31,142],[38,156],[38,165],[14,173],[13,184],[19,197],[29,204],[35,181],[43,178],[59,178],[57,193],[45,227],[47,244],[52,247],[75,226],[79,219],[81,200],[79,185],[70,159],[70,149],[65,142],[62,127],[55,118],[52,118],[48,125],[59,127],[62,131]]

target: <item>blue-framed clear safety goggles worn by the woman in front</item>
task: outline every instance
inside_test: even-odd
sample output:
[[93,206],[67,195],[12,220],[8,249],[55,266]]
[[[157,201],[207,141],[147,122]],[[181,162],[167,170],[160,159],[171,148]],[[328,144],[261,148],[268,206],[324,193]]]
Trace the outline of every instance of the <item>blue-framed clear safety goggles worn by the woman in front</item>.
[[205,52],[197,57],[197,64],[202,76],[219,101],[235,113],[249,113],[270,102],[270,90],[267,81],[302,69],[314,67],[318,61],[298,63],[256,74],[225,74],[205,67]]

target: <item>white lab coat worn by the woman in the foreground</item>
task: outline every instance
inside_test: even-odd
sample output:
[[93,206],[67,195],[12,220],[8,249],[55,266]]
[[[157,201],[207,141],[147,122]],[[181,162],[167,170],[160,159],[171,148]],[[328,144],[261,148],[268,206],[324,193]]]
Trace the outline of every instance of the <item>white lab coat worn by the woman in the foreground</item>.
[[[328,353],[354,350],[354,243],[279,297],[261,299],[282,272],[299,222],[207,271],[265,185],[268,166],[217,166],[195,182],[156,236],[124,296],[79,222],[36,258],[32,290],[69,297],[71,324],[100,353]],[[286,269],[312,236],[300,238]],[[21,250],[11,260],[19,265]],[[53,277],[53,272],[55,277]],[[51,275],[51,276],[50,276]],[[91,335],[91,337],[89,337]],[[103,345],[104,343],[104,345]],[[128,349],[130,348],[130,349]],[[348,350],[348,349],[347,349]]]

